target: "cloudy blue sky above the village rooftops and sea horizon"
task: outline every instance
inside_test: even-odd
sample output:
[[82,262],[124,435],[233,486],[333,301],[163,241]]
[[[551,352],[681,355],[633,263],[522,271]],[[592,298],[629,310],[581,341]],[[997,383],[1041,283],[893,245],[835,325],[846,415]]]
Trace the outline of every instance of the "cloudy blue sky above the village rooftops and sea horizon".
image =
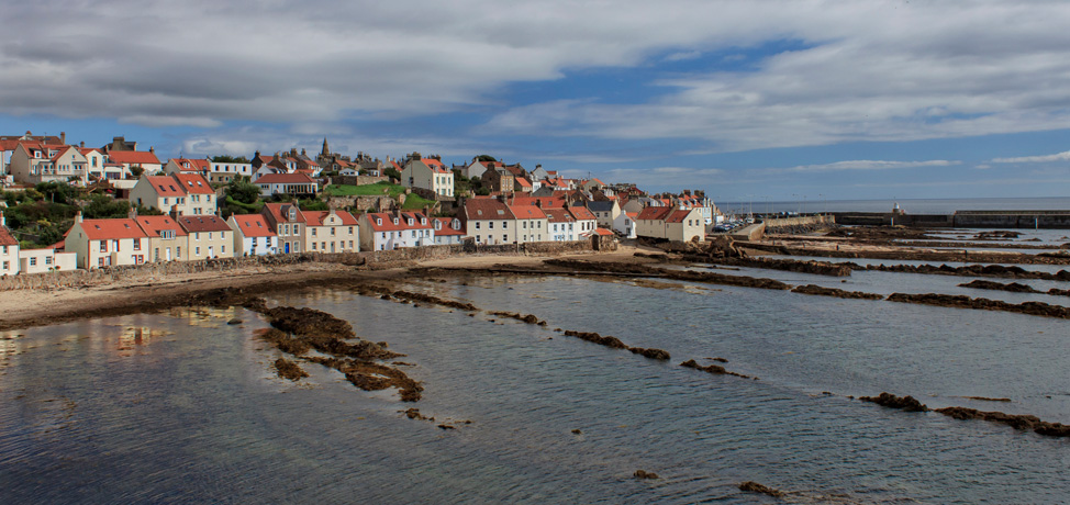
[[1065,1],[36,0],[0,134],[304,148],[715,201],[1070,195]]

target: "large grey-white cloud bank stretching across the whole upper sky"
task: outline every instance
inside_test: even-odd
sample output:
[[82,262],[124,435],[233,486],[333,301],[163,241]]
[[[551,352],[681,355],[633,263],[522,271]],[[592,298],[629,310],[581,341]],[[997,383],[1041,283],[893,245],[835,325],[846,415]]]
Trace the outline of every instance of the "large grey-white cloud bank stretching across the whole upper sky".
[[[1060,1],[41,0],[5,7],[0,103],[197,127],[476,108],[499,112],[498,133],[694,138],[714,152],[961,137],[1070,124],[1067,25]],[[784,40],[804,48],[744,72],[665,76],[667,94],[645,103],[509,108],[499,94]]]

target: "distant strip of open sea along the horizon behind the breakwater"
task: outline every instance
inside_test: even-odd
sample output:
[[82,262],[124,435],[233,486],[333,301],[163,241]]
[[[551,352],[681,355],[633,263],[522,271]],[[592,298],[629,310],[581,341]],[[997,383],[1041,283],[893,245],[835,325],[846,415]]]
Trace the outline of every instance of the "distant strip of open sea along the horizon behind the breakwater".
[[954,214],[955,211],[1065,211],[1070,197],[1055,198],[982,198],[982,199],[896,199],[896,200],[822,200],[794,202],[716,202],[722,212],[746,214],[773,212],[891,212],[898,203],[910,214]]

